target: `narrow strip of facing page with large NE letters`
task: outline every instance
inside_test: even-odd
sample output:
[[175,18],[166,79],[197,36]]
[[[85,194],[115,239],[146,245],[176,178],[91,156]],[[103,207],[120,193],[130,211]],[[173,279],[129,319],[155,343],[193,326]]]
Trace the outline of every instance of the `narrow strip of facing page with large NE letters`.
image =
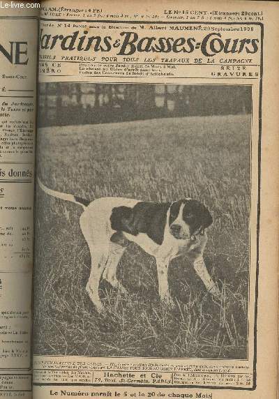
[[38,10],[0,2],[1,398],[31,398]]

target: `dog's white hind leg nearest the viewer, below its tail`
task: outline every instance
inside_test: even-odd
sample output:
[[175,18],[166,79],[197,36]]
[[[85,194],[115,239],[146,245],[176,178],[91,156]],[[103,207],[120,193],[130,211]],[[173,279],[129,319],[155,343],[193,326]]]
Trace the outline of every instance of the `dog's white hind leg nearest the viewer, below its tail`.
[[107,239],[106,234],[102,234],[99,230],[93,229],[91,225],[91,219],[88,218],[84,212],[80,217],[80,227],[84,235],[84,239],[89,246],[91,255],[91,272],[89,280],[86,284],[86,291],[89,294],[93,305],[96,307],[99,313],[104,310],[103,303],[100,301],[99,296],[99,284],[100,278],[105,270],[107,258],[109,255],[110,241]]

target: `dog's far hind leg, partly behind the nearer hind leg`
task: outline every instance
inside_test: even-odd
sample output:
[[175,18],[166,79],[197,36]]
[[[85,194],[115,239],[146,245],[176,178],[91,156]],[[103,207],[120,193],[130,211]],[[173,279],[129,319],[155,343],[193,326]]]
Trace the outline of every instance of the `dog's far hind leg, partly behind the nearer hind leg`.
[[117,265],[125,251],[125,247],[120,246],[116,243],[110,243],[109,257],[107,259],[107,264],[103,273],[103,278],[107,280],[112,287],[119,289],[122,294],[126,294],[126,288],[120,283],[116,277]]

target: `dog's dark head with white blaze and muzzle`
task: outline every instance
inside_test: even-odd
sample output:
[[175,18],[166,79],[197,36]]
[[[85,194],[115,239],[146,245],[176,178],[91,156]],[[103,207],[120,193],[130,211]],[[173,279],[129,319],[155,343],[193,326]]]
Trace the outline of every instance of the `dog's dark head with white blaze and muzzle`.
[[173,202],[169,209],[169,232],[176,239],[190,239],[203,234],[212,223],[209,210],[195,199]]

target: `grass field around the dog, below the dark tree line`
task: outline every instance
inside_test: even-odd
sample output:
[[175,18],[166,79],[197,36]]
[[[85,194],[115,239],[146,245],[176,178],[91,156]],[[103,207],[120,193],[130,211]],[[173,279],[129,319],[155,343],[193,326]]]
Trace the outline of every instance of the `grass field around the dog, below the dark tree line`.
[[213,215],[205,262],[222,301],[213,301],[185,259],[174,259],[176,308],[165,308],[153,258],[131,245],[118,272],[128,295],[102,282],[108,311],[98,315],[85,291],[90,257],[82,208],[38,188],[34,353],[245,359],[250,116],[42,128],[38,151],[38,174],[54,190],[87,199],[204,202]]

